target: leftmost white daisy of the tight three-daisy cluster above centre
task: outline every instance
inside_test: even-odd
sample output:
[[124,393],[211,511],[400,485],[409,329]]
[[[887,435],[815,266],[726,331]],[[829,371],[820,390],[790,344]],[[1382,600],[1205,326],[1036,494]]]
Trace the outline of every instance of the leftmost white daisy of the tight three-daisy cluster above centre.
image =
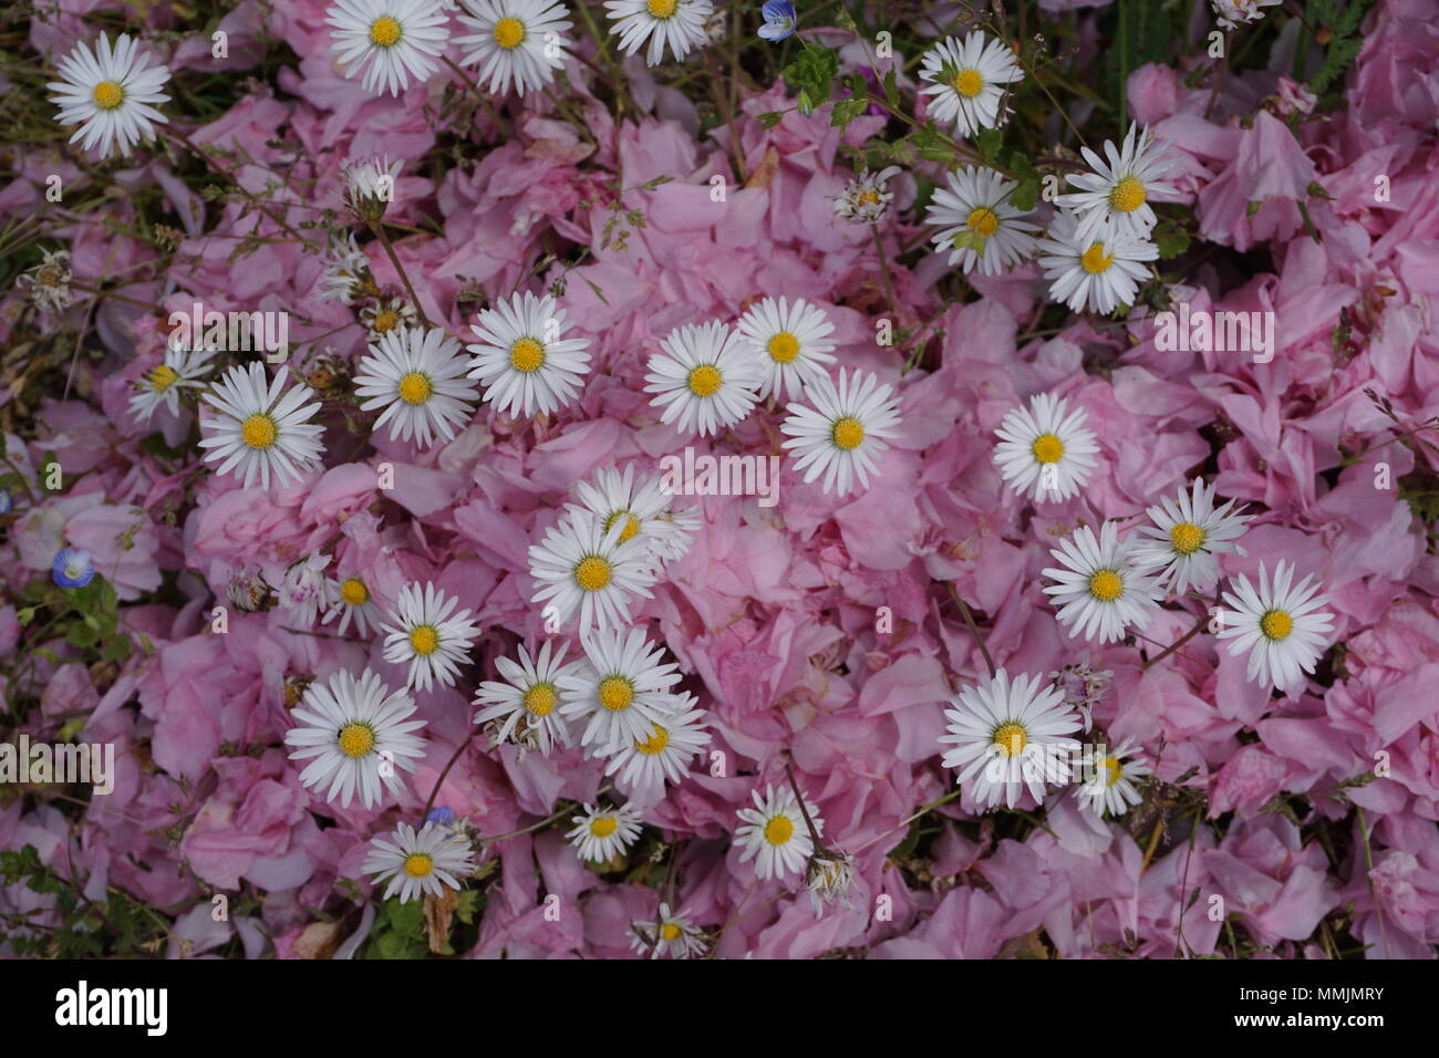
[[649,358],[645,392],[656,394],[649,403],[663,409],[661,422],[707,436],[754,407],[763,371],[738,331],[711,320],[676,327],[659,344],[665,351]]

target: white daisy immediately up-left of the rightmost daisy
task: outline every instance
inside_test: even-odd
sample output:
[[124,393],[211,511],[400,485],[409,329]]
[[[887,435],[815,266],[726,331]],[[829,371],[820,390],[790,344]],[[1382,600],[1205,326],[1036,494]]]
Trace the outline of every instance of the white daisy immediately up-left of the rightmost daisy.
[[1179,502],[1164,497],[1148,508],[1153,525],[1141,525],[1141,537],[1153,540],[1134,546],[1134,560],[1141,566],[1164,567],[1158,583],[1174,593],[1193,587],[1207,592],[1219,582],[1219,560],[1215,556],[1235,551],[1248,554],[1233,541],[1245,534],[1245,515],[1240,508],[1230,514],[1238,501],[1230,499],[1223,507],[1215,507],[1215,487],[1203,478],[1194,478],[1194,492],[1183,488]]

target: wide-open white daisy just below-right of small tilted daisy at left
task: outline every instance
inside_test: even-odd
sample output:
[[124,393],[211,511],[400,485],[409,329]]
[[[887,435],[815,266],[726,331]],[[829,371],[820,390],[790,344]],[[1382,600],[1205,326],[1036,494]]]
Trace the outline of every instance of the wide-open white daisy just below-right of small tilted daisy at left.
[[204,394],[204,403],[217,415],[201,419],[212,433],[201,438],[200,448],[212,449],[206,462],[222,461],[216,474],[237,471],[245,488],[256,478],[262,488],[269,488],[272,474],[276,484],[286,485],[319,459],[325,451],[319,440],[324,428],[309,422],[319,403],[305,403],[312,394],[307,386],[285,392],[288,373],[288,367],[281,367],[266,384],[262,364],[232,367]]

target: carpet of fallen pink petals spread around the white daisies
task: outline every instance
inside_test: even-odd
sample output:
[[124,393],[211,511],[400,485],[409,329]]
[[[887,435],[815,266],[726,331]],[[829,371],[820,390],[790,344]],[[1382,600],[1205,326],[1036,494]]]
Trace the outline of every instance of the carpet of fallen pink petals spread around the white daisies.
[[[859,171],[842,145],[879,135],[884,115],[840,131],[827,111],[796,111],[777,83],[738,94],[728,124],[709,128],[695,98],[666,83],[676,68],[649,69],[642,55],[623,65],[636,108],[623,115],[599,98],[597,60],[571,65],[563,108],[528,91],[476,105],[485,86],[450,66],[374,95],[335,65],[328,6],[240,3],[220,23],[226,76],[256,73],[239,101],[199,118],[177,96],[161,138],[104,171],[73,148],[12,151],[19,176],[0,189],[0,220],[56,216],[96,181],[117,194],[102,214],[58,229],[73,299],[45,320],[83,334],[85,353],[69,384],[60,373],[7,419],[6,469],[29,489],[0,521],[0,658],[16,661],[3,672],[13,711],[0,734],[114,744],[117,773],[105,796],[0,786],[0,848],[36,846],[92,900],[124,892],[155,908],[173,921],[170,956],[291,957],[319,920],[363,934],[386,891],[366,868],[373,839],[422,828],[440,808],[433,826],[469,844],[473,874],[458,882],[479,900],[459,953],[473,957],[635,956],[653,937],[669,954],[720,957],[1433,957],[1430,3],[1374,6],[1347,105],[1322,119],[1305,119],[1302,85],[1262,71],[1189,86],[1203,58],[1128,78],[1130,117],[1167,144],[1164,178],[1197,223],[1173,302],[1272,312],[1268,363],[1160,348],[1153,307],[1056,317],[1036,261],[970,273],[955,302],[940,289],[947,256],[912,253],[934,235],[914,209],[917,178],[943,186],[943,164],[917,160],[888,177],[894,197],[873,225],[836,216]],[[1062,6],[1073,4],[1045,4]],[[83,9],[62,3],[32,24],[52,68],[99,32]],[[751,36],[757,14],[758,4],[744,16]],[[132,32],[171,16],[148,17]],[[578,39],[571,50],[594,56]],[[292,58],[266,60],[279,42]],[[176,76],[213,69],[209,36],[147,46]],[[1098,46],[1091,33],[1084,48]],[[869,66],[863,53],[842,56],[843,69]],[[707,76],[694,55],[685,69]],[[901,76],[911,112],[912,85]],[[777,111],[778,121],[760,117]],[[190,131],[180,140],[174,128]],[[400,163],[384,213],[393,259],[345,202],[347,164],[381,155]],[[52,174],[60,203],[46,197]],[[212,184],[226,193],[206,196]],[[167,212],[145,216],[127,189],[154,186]],[[180,229],[171,248],[157,246],[155,223]],[[553,294],[566,337],[589,343],[576,397],[548,415],[473,399],[453,435],[430,443],[376,429],[376,412],[330,386],[360,371],[371,338],[358,299],[324,297],[327,226],[357,236],[384,298],[462,343],[514,292]],[[4,344],[33,338],[30,286],[0,305]],[[646,392],[672,331],[732,328],[781,297],[833,325],[833,377],[843,369],[892,387],[899,425],[848,494],[796,472],[781,426],[787,403],[804,403],[797,394],[698,435],[661,422]],[[371,320],[381,301],[370,299]],[[164,363],[168,315],[194,302],[289,314],[286,384],[312,387],[325,426],[322,455],[298,478],[246,488],[217,474],[194,443],[193,400],[147,422],[134,415],[137,384]],[[266,377],[278,370],[265,366]],[[14,377],[6,403],[20,393]],[[1036,394],[1081,409],[1098,449],[1082,488],[1059,501],[1019,495],[994,462],[996,429]],[[649,596],[629,597],[620,625],[676,665],[668,692],[692,695],[708,741],[678,780],[648,792],[581,746],[583,723],[553,747],[496,743],[473,701],[482,682],[504,679],[496,661],[518,659],[521,645],[534,658],[548,641],[571,661],[584,654],[578,623],[557,628],[535,602],[531,547],[597,471],[659,475],[661,459],[686,446],[783,456],[773,507],[672,497],[696,515],[688,550],[655,564]],[[45,484],[52,461],[59,488]],[[1128,534],[1194,478],[1249,517],[1242,553],[1220,556],[1226,590],[1284,561],[1295,580],[1312,574],[1333,615],[1312,672],[1282,691],[1246,679],[1248,658],[1206,623],[1212,590],[1160,594],[1112,642],[1071,636],[1043,590],[1050,553],[1079,527],[1098,534],[1112,521]],[[53,639],[45,610],[22,623],[24,586],[50,577],[62,547],[88,550],[114,586],[134,643],[124,659]],[[325,559],[318,576],[361,579],[378,622],[296,623],[296,570]],[[314,688],[337,672],[368,669],[404,689],[409,666],[387,659],[380,625],[393,623],[401,592],[426,584],[478,630],[456,678],[406,691],[423,756],[397,761],[373,805],[328,800],[291,756],[295,711],[312,710]],[[941,764],[945,710],[989,682],[983,651],[1009,674],[1058,681],[1085,717],[1088,734],[1075,738],[1128,740],[1153,772],[1135,780],[1140,803],[1105,816],[1078,783],[1048,783],[990,808],[957,783]],[[810,862],[822,848],[803,822],[790,869],[783,852],[771,862],[741,836],[750,826],[750,844],[766,841],[753,831],[771,796],[793,808],[790,774],[823,851],[850,858],[842,900],[812,900],[825,864]],[[617,859],[587,864],[567,835],[597,805],[629,805],[639,831]],[[232,913],[216,921],[220,894]],[[0,888],[0,931],[30,913],[53,924],[53,901],[22,882]],[[669,917],[684,928],[666,931]]]

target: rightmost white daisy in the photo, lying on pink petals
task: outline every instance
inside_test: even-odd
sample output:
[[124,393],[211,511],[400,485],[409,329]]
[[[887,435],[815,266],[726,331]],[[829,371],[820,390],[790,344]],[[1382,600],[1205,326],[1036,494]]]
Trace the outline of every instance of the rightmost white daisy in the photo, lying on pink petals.
[[1334,615],[1320,610],[1327,599],[1320,594],[1314,574],[1292,584],[1294,566],[1279,561],[1274,580],[1259,563],[1258,590],[1243,573],[1230,579],[1233,592],[1225,592],[1229,609],[1219,612],[1219,639],[1233,639],[1229,655],[1249,652],[1246,679],[1278,691],[1294,689],[1314,672],[1334,632]]

